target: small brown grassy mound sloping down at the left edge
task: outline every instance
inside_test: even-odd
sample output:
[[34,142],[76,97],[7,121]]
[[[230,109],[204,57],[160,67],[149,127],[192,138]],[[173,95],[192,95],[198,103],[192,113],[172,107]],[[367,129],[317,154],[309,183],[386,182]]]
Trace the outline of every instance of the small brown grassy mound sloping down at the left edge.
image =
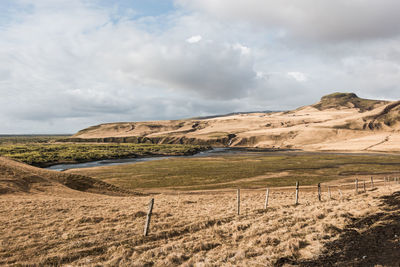
[[77,191],[107,195],[128,194],[127,191],[90,177],[36,168],[0,157],[0,194],[46,192],[76,194]]

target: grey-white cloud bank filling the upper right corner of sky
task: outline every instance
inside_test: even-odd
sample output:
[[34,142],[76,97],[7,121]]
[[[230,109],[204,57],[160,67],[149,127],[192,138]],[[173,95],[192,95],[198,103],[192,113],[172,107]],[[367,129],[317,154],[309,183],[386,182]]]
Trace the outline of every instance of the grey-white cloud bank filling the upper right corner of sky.
[[176,0],[218,19],[312,40],[363,40],[398,36],[398,0]]

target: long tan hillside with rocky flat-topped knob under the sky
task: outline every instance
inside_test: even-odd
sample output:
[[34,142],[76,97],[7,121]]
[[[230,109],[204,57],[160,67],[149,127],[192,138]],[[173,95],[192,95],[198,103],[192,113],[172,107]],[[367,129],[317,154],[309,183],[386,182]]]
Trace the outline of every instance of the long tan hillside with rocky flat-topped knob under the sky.
[[293,111],[89,127],[75,141],[192,143],[303,150],[399,151],[400,101],[334,93]]

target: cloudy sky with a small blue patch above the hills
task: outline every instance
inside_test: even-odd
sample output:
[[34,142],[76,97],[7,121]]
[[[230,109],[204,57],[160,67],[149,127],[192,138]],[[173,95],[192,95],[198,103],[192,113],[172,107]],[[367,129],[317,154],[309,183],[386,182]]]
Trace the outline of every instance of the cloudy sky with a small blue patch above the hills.
[[398,0],[0,0],[0,134],[400,99]]

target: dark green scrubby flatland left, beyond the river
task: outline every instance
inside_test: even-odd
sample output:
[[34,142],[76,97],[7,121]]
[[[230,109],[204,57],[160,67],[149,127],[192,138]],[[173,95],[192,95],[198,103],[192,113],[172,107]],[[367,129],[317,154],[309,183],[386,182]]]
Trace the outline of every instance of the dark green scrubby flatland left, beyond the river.
[[190,155],[207,149],[207,147],[197,145],[74,144],[55,143],[55,141],[55,137],[0,138],[0,156],[43,167],[56,163],[100,159],[149,155]]

